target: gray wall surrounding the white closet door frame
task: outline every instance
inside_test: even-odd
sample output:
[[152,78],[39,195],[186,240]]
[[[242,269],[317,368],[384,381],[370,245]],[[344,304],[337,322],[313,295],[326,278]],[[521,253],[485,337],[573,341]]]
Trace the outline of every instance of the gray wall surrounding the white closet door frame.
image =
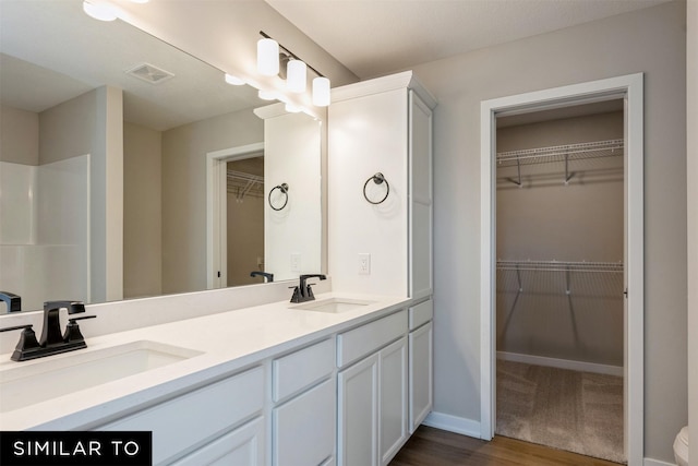
[[480,419],[480,101],[603,77],[645,82],[645,449],[686,425],[686,31],[671,2],[414,67],[434,133],[435,410]]

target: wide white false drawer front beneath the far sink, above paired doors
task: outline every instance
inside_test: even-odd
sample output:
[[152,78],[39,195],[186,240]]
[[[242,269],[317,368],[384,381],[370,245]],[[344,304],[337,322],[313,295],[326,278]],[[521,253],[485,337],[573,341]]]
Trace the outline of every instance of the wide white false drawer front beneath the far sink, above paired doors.
[[399,311],[337,336],[337,366],[344,367],[396,340],[407,332],[407,311]]

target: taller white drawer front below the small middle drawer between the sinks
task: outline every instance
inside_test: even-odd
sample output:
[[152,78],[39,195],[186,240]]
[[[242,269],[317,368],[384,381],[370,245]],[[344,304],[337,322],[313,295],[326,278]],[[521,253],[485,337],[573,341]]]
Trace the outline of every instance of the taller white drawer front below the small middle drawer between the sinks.
[[328,380],[274,409],[275,466],[320,465],[335,453],[335,383]]

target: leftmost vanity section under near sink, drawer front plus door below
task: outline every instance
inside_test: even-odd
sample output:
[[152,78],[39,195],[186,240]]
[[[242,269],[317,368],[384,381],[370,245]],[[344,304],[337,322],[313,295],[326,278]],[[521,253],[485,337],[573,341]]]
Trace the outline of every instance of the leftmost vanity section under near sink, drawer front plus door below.
[[263,465],[264,379],[258,366],[95,430],[152,431],[154,465]]

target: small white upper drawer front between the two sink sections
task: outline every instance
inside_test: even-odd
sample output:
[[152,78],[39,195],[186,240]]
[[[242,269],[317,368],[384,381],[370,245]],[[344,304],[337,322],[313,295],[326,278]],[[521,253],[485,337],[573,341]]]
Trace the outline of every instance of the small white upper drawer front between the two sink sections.
[[335,368],[335,345],[332,338],[325,339],[275,359],[272,367],[274,402],[278,403],[332,373]]

